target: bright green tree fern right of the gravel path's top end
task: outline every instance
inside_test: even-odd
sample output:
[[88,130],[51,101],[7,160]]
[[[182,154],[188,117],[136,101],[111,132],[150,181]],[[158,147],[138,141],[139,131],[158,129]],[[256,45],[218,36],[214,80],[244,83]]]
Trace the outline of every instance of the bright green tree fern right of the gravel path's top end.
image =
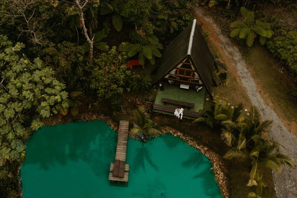
[[267,39],[271,38],[274,33],[270,29],[270,24],[261,20],[255,20],[255,12],[244,7],[241,7],[240,11],[244,19],[236,20],[230,24],[231,28],[234,28],[231,31],[230,36],[246,40],[246,44],[250,47],[253,45],[257,34],[259,34],[260,44],[264,45]]

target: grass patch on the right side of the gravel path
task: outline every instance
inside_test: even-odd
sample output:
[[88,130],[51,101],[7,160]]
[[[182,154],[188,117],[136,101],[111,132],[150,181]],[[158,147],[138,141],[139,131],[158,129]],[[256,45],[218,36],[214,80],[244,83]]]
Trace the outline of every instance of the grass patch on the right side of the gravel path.
[[297,101],[290,90],[293,87],[293,77],[285,70],[283,74],[279,72],[278,69],[285,66],[263,46],[240,47],[240,51],[263,100],[282,118],[290,132],[297,134]]

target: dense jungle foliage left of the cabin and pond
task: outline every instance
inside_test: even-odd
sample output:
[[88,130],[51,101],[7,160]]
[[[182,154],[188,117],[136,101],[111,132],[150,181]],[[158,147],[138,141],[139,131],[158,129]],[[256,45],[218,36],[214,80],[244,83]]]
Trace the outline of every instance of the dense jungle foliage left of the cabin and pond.
[[119,109],[123,91],[148,91],[152,77],[132,75],[125,61],[155,64],[197,2],[1,0],[0,197],[18,191],[8,174],[42,118],[76,115],[81,94]]

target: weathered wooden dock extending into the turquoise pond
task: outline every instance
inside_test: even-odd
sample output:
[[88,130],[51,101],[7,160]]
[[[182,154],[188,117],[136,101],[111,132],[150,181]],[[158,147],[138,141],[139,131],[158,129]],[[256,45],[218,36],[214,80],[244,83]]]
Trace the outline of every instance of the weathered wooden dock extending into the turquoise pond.
[[110,163],[108,180],[113,182],[128,182],[129,165],[126,164],[129,121],[120,121],[118,143],[114,163]]

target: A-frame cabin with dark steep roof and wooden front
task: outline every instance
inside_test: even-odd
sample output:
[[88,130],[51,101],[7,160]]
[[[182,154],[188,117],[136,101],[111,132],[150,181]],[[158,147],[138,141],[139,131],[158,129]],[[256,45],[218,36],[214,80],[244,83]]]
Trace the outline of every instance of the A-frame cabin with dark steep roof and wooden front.
[[194,19],[164,49],[155,83],[168,81],[170,84],[196,90],[204,86],[212,99],[212,82],[217,86],[213,78],[214,66],[214,58]]

